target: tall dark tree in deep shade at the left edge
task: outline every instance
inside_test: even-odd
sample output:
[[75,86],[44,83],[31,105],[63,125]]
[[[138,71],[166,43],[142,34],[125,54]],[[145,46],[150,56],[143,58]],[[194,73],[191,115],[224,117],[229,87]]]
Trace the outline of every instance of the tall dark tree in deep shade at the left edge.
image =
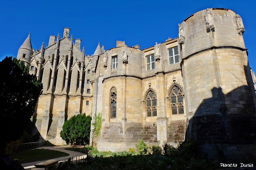
[[7,143],[20,139],[30,123],[42,84],[29,74],[24,61],[6,57],[0,62],[0,151]]

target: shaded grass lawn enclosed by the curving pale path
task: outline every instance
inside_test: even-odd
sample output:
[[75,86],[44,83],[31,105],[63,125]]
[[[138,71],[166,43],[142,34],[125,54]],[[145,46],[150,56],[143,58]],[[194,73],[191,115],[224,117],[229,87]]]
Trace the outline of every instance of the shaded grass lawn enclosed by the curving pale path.
[[62,156],[68,156],[68,153],[60,152],[58,150],[50,150],[50,149],[33,149],[26,150],[24,152],[19,152],[16,154],[11,154],[12,158],[18,158],[20,164],[35,162],[38,160],[47,160],[58,158]]

